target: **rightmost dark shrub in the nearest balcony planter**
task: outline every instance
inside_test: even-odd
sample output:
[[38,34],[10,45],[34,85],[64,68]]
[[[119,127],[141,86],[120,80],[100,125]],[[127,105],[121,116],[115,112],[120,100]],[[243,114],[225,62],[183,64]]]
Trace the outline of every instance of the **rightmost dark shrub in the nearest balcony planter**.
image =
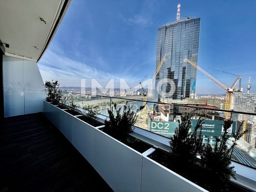
[[231,117],[224,120],[223,134],[221,139],[216,137],[216,143],[212,145],[208,143],[204,145],[203,153],[201,154],[201,167],[203,169],[202,177],[200,179],[201,185],[211,192],[228,192],[230,179],[235,179],[234,167],[231,166],[231,157],[237,141],[247,132],[241,131],[244,123],[233,132],[234,139],[232,144],[228,146],[229,128],[232,126]]

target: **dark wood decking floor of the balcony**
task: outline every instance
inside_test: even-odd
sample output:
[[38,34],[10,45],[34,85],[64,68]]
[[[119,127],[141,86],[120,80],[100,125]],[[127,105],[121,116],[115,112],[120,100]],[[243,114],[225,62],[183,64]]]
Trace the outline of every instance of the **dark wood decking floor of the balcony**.
[[1,124],[0,192],[112,191],[43,114]]

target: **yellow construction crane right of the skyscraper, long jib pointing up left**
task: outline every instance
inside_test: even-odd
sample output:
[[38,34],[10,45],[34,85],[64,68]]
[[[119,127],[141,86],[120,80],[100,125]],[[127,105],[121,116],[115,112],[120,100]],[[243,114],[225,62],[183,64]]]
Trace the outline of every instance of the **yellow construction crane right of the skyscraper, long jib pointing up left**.
[[[225,89],[226,93],[226,103],[225,103],[225,110],[232,110],[232,105],[231,105],[231,101],[232,101],[232,95],[233,92],[242,92],[243,89],[241,87],[239,87],[239,89],[235,89],[235,85],[240,82],[241,85],[241,77],[237,77],[237,79],[235,80],[235,82],[232,84],[232,86],[229,88],[226,85],[222,84],[219,80],[217,80],[216,78],[214,78],[212,75],[210,75],[209,73],[207,73],[205,70],[203,70],[201,67],[199,67],[196,63],[192,62],[191,60],[188,60],[187,58],[184,59],[185,61],[189,62],[191,65],[193,65],[196,69],[198,69],[200,72],[204,73],[208,78],[210,78],[212,81],[214,81],[216,84],[219,84],[219,86],[221,86],[223,89]],[[230,113],[225,113],[225,118],[229,118],[230,117]]]

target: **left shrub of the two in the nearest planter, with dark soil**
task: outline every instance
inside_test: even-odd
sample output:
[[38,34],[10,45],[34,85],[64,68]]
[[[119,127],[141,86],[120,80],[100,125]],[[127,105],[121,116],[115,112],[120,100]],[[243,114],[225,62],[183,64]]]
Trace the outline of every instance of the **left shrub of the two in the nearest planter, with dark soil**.
[[178,120],[179,125],[175,128],[174,135],[169,142],[171,151],[157,149],[148,156],[188,180],[193,180],[191,173],[195,173],[194,168],[198,161],[197,156],[203,150],[201,137],[203,119],[201,117],[197,120],[194,131],[191,132],[192,119],[197,113],[198,109],[195,109],[181,116],[181,120]]

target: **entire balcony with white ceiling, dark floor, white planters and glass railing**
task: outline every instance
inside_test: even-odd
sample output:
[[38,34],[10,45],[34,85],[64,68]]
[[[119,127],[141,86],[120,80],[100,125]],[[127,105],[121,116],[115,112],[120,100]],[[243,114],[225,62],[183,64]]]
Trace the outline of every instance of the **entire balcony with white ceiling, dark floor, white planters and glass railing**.
[[[104,133],[101,130],[104,125],[91,126],[67,110],[44,101],[45,87],[37,61],[49,46],[69,3],[70,0],[33,0],[27,4],[24,1],[0,2],[0,18],[3,18],[0,20],[0,74],[3,80],[0,89],[3,106],[0,111],[3,118],[0,191],[206,192],[192,180],[149,157],[158,149],[170,152],[169,136],[181,119],[180,115],[198,108],[196,105],[173,104],[169,110],[169,104],[147,101],[147,124],[143,124],[143,114],[138,112],[139,121],[131,135],[151,147],[138,152]],[[37,13],[31,16],[31,10]],[[15,20],[11,19],[13,15]],[[108,119],[107,109],[112,107],[112,102],[120,107],[126,101],[136,106],[144,105],[143,100],[128,97],[64,92],[63,96],[67,103],[97,105],[100,111],[97,118],[101,121]],[[171,115],[167,122],[163,116],[149,113],[158,104],[162,106],[159,109],[164,111],[163,116]],[[218,119],[215,111],[218,111],[219,120],[223,119],[221,113],[230,112],[199,109],[207,120]],[[239,111],[236,114],[255,115]],[[251,131],[249,135],[254,134]],[[213,135],[205,134],[204,141],[207,139],[214,144]],[[256,191],[255,158],[250,156],[255,149],[246,145],[245,140],[253,142],[255,138],[245,137],[242,140],[245,144],[235,150],[232,166],[237,180],[231,180],[231,191]],[[95,181],[97,185],[92,184]]]

